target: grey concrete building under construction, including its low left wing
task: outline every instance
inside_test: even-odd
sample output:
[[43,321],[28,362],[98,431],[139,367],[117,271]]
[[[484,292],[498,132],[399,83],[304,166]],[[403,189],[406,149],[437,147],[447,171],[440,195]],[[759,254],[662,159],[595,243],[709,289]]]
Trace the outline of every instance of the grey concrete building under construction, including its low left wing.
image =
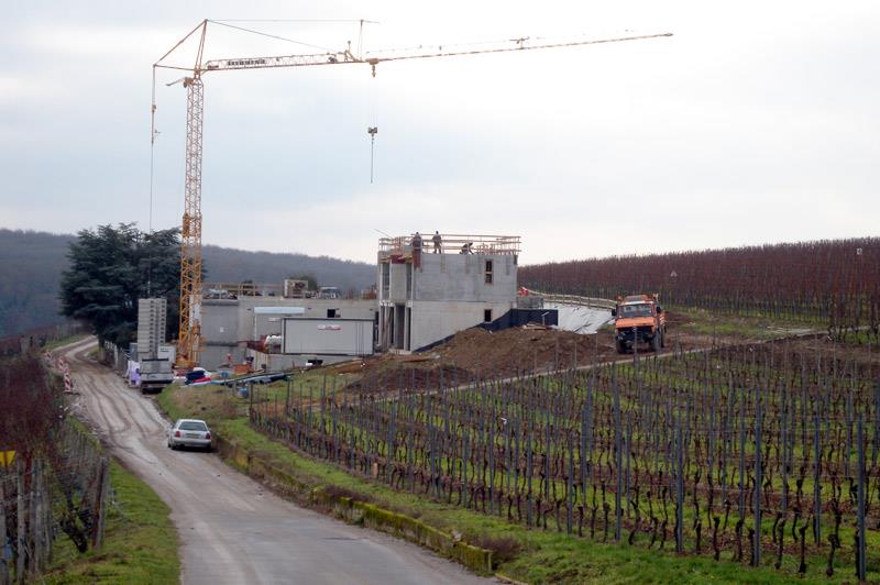
[[376,291],[358,298],[316,296],[289,282],[209,284],[201,365],[280,369],[426,350],[475,325],[556,324],[553,310],[517,307],[519,250],[517,235],[383,238]]

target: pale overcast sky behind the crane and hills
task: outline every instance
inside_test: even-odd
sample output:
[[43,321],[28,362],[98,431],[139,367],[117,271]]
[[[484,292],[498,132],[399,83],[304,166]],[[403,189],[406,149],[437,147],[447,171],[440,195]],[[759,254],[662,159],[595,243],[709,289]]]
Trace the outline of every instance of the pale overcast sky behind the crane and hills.
[[[205,243],[372,262],[375,230],[518,234],[536,263],[878,235],[871,1],[6,2],[0,228],[147,228],[151,65],[205,18],[378,21],[365,49],[674,33],[388,63],[375,79],[207,74]],[[354,23],[234,24],[359,38]],[[206,57],[310,51],[211,24]],[[177,77],[156,91],[154,228],[183,210]]]

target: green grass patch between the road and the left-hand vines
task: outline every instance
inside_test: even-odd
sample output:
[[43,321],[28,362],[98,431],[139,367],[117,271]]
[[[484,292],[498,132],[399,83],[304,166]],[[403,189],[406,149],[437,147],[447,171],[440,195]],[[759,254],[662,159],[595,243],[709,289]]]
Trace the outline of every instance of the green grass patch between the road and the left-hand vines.
[[113,461],[105,543],[79,554],[70,541],[56,541],[45,583],[178,583],[180,560],[170,509],[132,473]]

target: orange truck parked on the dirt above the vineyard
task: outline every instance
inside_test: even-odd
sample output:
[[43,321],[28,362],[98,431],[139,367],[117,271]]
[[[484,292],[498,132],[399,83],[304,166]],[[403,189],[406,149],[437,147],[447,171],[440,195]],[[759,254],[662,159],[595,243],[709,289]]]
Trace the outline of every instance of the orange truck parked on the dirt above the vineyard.
[[667,344],[667,319],[657,295],[617,297],[612,309],[617,353],[626,353],[638,342],[649,343],[654,352]]

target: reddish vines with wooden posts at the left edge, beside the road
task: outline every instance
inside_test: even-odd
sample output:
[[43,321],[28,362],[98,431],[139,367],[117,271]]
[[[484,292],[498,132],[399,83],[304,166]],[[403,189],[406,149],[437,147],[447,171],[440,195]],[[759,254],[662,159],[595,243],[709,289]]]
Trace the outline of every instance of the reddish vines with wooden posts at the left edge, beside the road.
[[100,444],[67,420],[61,376],[33,354],[0,361],[0,584],[32,582],[58,538],[100,548],[110,489]]

